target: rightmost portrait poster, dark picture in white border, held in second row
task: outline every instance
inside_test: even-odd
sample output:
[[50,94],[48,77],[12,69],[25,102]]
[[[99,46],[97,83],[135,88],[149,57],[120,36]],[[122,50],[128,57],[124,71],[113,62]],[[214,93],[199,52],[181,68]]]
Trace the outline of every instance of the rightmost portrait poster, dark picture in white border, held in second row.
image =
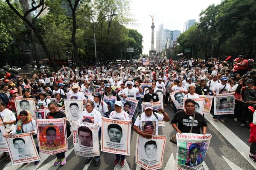
[[234,114],[235,97],[232,93],[214,96],[214,114]]

